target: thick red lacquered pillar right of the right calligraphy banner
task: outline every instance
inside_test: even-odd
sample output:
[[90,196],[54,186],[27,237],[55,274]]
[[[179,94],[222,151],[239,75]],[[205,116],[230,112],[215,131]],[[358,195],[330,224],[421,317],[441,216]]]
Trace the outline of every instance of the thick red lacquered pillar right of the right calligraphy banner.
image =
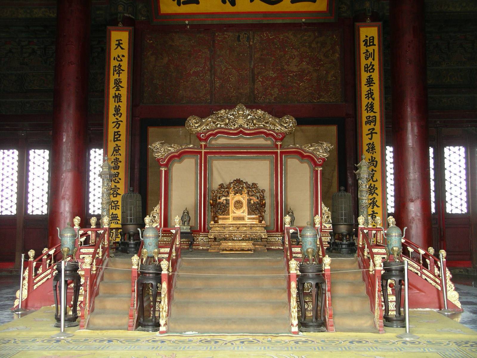
[[424,0],[391,0],[394,202],[406,238],[432,246]]

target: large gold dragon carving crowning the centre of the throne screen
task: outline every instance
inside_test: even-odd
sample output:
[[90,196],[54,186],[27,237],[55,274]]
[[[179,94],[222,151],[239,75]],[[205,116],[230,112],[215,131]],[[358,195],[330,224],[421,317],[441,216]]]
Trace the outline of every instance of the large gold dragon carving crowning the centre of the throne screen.
[[260,109],[249,109],[239,104],[234,109],[221,109],[213,115],[200,118],[190,116],[186,128],[191,134],[205,132],[209,129],[229,128],[266,128],[277,132],[293,133],[297,121],[292,116],[277,118]]

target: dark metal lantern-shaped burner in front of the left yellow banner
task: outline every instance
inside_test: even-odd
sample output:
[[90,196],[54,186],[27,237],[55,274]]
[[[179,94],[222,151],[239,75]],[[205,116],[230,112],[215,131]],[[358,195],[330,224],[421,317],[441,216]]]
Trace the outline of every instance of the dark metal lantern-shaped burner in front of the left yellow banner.
[[[129,188],[129,192],[121,197],[121,248],[126,253],[137,253],[139,240],[135,240],[137,229],[142,224],[142,200],[141,194],[133,192],[134,188]],[[129,241],[125,241],[125,235]]]

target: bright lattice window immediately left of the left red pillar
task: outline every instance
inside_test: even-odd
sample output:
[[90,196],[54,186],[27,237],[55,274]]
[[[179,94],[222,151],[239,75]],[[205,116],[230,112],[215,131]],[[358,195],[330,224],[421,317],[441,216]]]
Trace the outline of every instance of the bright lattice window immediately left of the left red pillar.
[[48,214],[48,168],[50,151],[31,149],[28,159],[28,213]]

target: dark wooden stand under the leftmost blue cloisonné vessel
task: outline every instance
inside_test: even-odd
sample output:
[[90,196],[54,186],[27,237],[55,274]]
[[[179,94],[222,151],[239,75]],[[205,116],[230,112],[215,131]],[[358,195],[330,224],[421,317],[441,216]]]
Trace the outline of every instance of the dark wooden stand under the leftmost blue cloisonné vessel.
[[[62,267],[61,262],[56,264],[57,273],[53,277],[53,297],[55,300],[55,327],[61,327],[61,312],[64,310],[64,326],[76,327],[79,325],[78,319],[78,298],[80,296],[81,276],[78,274],[79,265],[77,262],[64,263],[64,282],[62,282]],[[68,299],[68,282],[73,281],[73,294]],[[64,307],[59,307],[61,300],[62,285],[64,286]],[[68,314],[69,303],[72,302],[71,315]]]

